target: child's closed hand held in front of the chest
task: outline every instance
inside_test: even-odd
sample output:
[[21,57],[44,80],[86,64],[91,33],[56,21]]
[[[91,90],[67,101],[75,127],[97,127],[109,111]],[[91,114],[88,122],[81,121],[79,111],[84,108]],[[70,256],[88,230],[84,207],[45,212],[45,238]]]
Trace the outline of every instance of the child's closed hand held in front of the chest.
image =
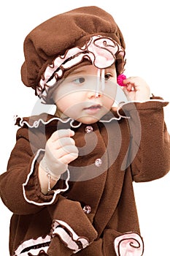
[[52,177],[60,177],[72,162],[78,157],[78,149],[75,146],[74,131],[61,129],[53,132],[45,146],[44,162],[50,170]]

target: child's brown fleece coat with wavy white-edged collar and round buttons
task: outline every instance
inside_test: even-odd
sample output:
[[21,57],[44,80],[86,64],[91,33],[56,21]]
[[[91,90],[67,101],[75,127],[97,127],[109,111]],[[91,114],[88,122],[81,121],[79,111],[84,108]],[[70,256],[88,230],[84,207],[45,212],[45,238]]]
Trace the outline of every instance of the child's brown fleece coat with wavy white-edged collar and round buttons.
[[133,181],[152,181],[170,169],[165,105],[159,99],[128,103],[115,116],[119,120],[108,113],[105,121],[91,124],[93,132],[85,124],[71,127],[80,157],[69,166],[69,189],[64,174],[47,195],[39,187],[39,159],[50,135],[70,128],[70,121],[46,114],[18,119],[22,127],[8,170],[0,177],[1,198],[13,212],[10,255],[115,256],[122,255],[123,241],[139,243],[136,250],[142,255]]

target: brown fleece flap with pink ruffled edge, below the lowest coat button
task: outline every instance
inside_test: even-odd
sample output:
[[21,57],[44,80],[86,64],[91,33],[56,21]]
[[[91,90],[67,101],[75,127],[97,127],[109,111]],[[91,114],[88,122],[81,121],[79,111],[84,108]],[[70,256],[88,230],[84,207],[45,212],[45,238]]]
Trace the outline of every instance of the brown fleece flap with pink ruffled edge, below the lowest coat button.
[[97,238],[98,233],[79,202],[59,195],[57,207],[54,210],[49,208],[49,211],[53,217],[51,236],[53,239],[57,236],[73,253],[84,249]]

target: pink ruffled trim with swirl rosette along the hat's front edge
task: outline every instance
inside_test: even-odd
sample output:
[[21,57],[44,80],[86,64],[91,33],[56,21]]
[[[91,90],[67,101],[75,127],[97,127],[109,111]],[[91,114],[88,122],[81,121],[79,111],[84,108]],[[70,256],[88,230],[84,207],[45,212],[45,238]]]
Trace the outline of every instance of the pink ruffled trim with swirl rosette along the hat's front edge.
[[109,37],[93,36],[82,48],[66,50],[63,56],[58,56],[53,64],[47,66],[36,88],[36,94],[45,101],[47,90],[63,77],[66,69],[74,67],[83,59],[88,59],[98,69],[104,69],[115,63],[118,53],[124,56],[123,48],[115,40]]

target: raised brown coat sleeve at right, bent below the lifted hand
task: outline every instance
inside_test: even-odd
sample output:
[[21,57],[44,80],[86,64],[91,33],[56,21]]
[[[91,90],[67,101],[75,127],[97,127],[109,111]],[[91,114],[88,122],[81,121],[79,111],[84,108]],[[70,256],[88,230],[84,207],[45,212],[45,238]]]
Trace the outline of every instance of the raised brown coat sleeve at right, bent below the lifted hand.
[[170,139],[164,122],[163,107],[168,102],[151,99],[123,106],[127,118],[131,145],[128,164],[134,181],[152,181],[170,170]]

